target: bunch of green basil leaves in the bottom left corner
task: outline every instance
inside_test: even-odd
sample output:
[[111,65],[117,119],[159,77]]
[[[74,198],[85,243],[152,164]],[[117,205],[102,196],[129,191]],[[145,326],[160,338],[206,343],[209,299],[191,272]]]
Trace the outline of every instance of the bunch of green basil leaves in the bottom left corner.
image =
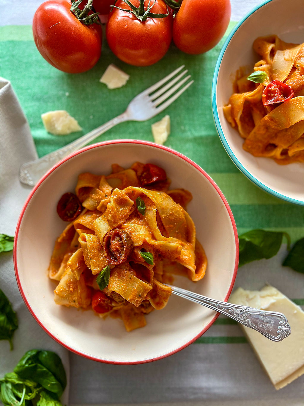
[[52,351],[30,350],[13,372],[0,379],[0,400],[5,406],[62,406],[59,397],[65,387],[60,357]]

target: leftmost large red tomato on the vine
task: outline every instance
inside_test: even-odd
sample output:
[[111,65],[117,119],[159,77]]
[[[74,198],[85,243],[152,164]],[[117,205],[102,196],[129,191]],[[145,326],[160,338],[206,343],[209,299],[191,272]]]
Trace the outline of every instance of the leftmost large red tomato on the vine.
[[39,52],[51,65],[67,73],[91,69],[101,55],[101,27],[86,26],[70,11],[69,0],[47,0],[33,19]]

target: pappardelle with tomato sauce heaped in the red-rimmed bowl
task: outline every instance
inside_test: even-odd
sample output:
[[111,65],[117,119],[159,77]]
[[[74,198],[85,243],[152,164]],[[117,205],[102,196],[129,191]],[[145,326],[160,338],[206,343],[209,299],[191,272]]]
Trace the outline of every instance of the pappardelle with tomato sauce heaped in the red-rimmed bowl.
[[57,206],[69,221],[48,270],[59,282],[57,304],[120,317],[131,331],[165,307],[173,274],[203,278],[207,258],[186,212],[192,195],[169,185],[162,168],[140,162],[79,175],[76,195],[64,194]]

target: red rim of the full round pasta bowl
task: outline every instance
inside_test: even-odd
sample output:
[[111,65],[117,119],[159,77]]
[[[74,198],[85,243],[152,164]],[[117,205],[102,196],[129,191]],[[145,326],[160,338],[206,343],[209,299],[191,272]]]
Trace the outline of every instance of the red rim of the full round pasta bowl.
[[103,363],[107,363],[107,364],[120,364],[120,365],[133,365],[133,364],[143,364],[143,363],[148,363],[151,361],[157,361],[159,359],[165,358],[169,355],[175,354],[176,352],[179,352],[180,350],[182,350],[183,348],[186,348],[187,346],[189,346],[191,343],[193,343],[193,341],[195,341],[196,339],[198,339],[203,333],[205,333],[208,328],[214,323],[214,321],[217,319],[218,315],[220,313],[216,313],[216,315],[212,318],[212,320],[208,323],[208,325],[203,328],[203,330],[197,334],[193,339],[191,339],[190,341],[188,341],[187,343],[185,343],[184,345],[180,346],[179,348],[170,351],[166,354],[163,354],[161,356],[155,357],[155,358],[147,358],[141,361],[109,361],[109,360],[105,360],[102,358],[98,358],[98,357],[94,357],[91,356],[89,354],[86,354],[84,352],[81,352],[80,350],[77,350],[65,343],[63,343],[62,341],[60,341],[59,338],[55,337],[51,331],[49,331],[43,324],[42,322],[39,320],[39,318],[36,316],[36,314],[34,313],[33,309],[31,308],[27,298],[26,298],[26,294],[22,288],[20,279],[19,279],[19,272],[18,272],[18,267],[17,267],[17,243],[18,243],[18,235],[19,235],[19,230],[20,230],[20,226],[21,226],[21,222],[22,222],[22,218],[24,216],[24,213],[26,211],[26,208],[28,206],[28,204],[30,203],[30,200],[32,199],[32,197],[34,196],[36,190],[39,188],[39,186],[43,183],[43,181],[53,172],[55,171],[61,164],[63,164],[64,162],[66,162],[67,160],[73,158],[76,155],[79,155],[82,152],[88,151],[90,149],[94,149],[97,147],[102,147],[105,145],[112,145],[112,144],[137,144],[137,145],[146,145],[149,147],[154,147],[154,148],[158,148],[158,149],[163,149],[164,151],[167,151],[169,153],[173,153],[173,155],[178,156],[179,158],[182,158],[183,160],[185,160],[186,162],[188,162],[189,164],[191,164],[195,169],[197,169],[204,177],[206,177],[206,179],[212,184],[212,186],[214,187],[214,189],[218,192],[219,196],[221,197],[227,212],[229,214],[229,218],[233,227],[233,233],[234,233],[234,238],[235,238],[235,264],[234,264],[234,270],[233,270],[233,275],[232,275],[232,279],[231,279],[231,283],[228,289],[228,292],[225,296],[224,301],[227,302],[234,282],[235,282],[235,278],[236,278],[236,274],[238,271],[238,261],[239,261],[239,240],[238,240],[238,231],[235,225],[235,220],[233,218],[233,214],[231,212],[231,209],[227,203],[227,200],[225,199],[223,193],[221,192],[221,190],[218,188],[218,186],[216,185],[216,183],[214,182],[214,180],[199,166],[197,165],[195,162],[193,162],[191,159],[187,158],[185,155],[183,155],[182,153],[175,151],[171,148],[165,147],[163,145],[158,145],[155,143],[152,143],[150,141],[143,141],[143,140],[132,140],[132,139],[127,139],[127,140],[110,140],[110,141],[104,141],[101,143],[96,143],[93,145],[89,145],[88,147],[84,147],[82,149],[80,149],[79,151],[76,151],[74,153],[71,153],[70,155],[68,155],[66,158],[63,158],[60,162],[58,162],[56,165],[54,165],[36,184],[36,186],[34,186],[33,190],[30,192],[30,195],[28,196],[26,202],[24,203],[24,206],[21,210],[21,214],[19,216],[18,222],[17,222],[17,227],[16,227],[16,231],[15,231],[15,239],[14,239],[14,248],[13,248],[13,261],[14,261],[14,269],[15,269],[15,277],[17,280],[17,285],[19,288],[19,291],[21,293],[21,296],[26,304],[26,306],[28,307],[28,310],[30,311],[30,313],[32,314],[32,316],[34,317],[34,319],[36,320],[36,322],[39,324],[39,326],[41,326],[41,328],[43,328],[43,330],[45,330],[45,332],[51,337],[53,338],[55,341],[57,341],[60,345],[62,345],[63,347],[65,347],[66,349],[74,352],[75,354],[78,354],[80,356],[83,356],[84,358],[88,358],[92,361],[98,361],[98,362],[103,362]]

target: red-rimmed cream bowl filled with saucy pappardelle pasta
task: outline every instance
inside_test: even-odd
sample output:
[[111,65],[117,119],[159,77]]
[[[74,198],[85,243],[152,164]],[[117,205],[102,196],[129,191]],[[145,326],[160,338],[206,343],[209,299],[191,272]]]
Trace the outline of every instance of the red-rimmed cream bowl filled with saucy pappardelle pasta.
[[[162,179],[151,183],[154,175]],[[238,235],[225,197],[194,162],[146,141],[108,141],[35,186],[14,265],[28,309],[61,345],[95,361],[143,363],[212,325],[216,312],[170,296],[167,283],[227,300]]]

